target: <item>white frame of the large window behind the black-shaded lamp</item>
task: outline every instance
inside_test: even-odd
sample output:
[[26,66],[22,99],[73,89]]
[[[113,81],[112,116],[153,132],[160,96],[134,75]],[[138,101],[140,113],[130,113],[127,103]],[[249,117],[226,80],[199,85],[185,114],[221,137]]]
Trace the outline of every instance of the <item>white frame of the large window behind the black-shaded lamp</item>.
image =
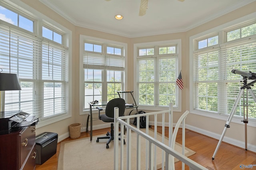
[[[66,79],[66,91],[68,94],[66,94],[66,112],[63,114],[58,114],[58,115],[54,115],[52,117],[50,117],[49,119],[43,119],[41,121],[38,122],[38,124],[36,125],[38,128],[40,127],[44,127],[46,125],[50,125],[52,123],[55,123],[57,121],[61,121],[63,119],[69,118],[72,116],[72,100],[71,98],[68,98],[68,96],[72,96],[72,85],[69,83],[68,79],[69,77],[71,77],[72,75],[72,60],[71,60],[71,54],[72,54],[72,32],[70,30],[68,30],[68,28],[58,24],[57,22],[53,21],[52,19],[44,16],[43,14],[41,14],[40,12],[36,11],[34,8],[31,8],[29,6],[27,6],[26,4],[24,4],[23,2],[15,2],[15,4],[13,2],[10,1],[2,1],[0,2],[0,5],[3,6],[4,8],[7,8],[15,13],[18,13],[18,15],[23,16],[29,20],[32,20],[34,22],[34,26],[33,26],[33,33],[25,30],[23,28],[19,28],[18,26],[15,26],[13,24],[10,24],[8,22],[4,22],[4,21],[0,21],[1,24],[8,26],[8,27],[13,27],[16,30],[19,30],[21,32],[24,32],[26,34],[30,34],[31,36],[38,36],[38,38],[43,39],[42,37],[42,25],[43,24],[47,24],[47,25],[54,25],[55,29],[59,28],[59,30],[62,30],[62,33],[64,33],[66,35],[65,40],[64,38],[62,38],[62,43],[64,41],[64,43],[69,47],[68,53],[67,53],[67,59],[68,61],[70,61],[67,65],[67,79]],[[39,19],[40,18],[40,19]],[[64,45],[62,45],[64,46]],[[35,80],[31,80],[31,79],[23,79],[20,78],[19,81],[30,81],[32,83],[34,83]],[[43,103],[40,103],[40,105],[43,105]]]

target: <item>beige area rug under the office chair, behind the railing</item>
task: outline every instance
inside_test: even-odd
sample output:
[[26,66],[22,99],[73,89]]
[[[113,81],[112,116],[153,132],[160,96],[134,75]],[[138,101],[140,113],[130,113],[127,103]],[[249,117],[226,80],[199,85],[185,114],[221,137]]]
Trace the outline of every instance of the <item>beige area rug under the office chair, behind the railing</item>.
[[[153,130],[149,130],[150,136],[154,136]],[[102,136],[102,135],[100,135]],[[126,135],[124,136],[126,139]],[[157,135],[161,141],[161,136]],[[58,170],[113,170],[114,169],[114,141],[110,142],[109,149],[106,149],[107,139],[102,139],[96,142],[97,136],[61,142],[60,153],[58,156]],[[136,133],[132,132],[132,168],[136,169]],[[165,144],[168,145],[168,139],[165,139]],[[120,146],[120,142],[119,142]],[[126,146],[126,145],[124,145]],[[157,168],[161,168],[162,151],[156,147],[156,164]],[[175,150],[182,153],[182,146],[176,142]],[[185,147],[185,156],[191,156],[196,152]],[[124,157],[126,160],[126,147],[124,147]],[[178,162],[175,158],[175,162]],[[141,169],[146,167],[146,140],[141,138]],[[126,161],[124,161],[126,169]]]

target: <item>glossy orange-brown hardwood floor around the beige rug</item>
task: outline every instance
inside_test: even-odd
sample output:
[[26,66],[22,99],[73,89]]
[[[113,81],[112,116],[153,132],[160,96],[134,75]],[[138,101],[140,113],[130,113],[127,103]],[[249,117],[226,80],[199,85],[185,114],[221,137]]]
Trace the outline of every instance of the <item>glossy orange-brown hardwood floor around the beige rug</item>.
[[[100,129],[94,130],[93,135],[106,134],[108,129]],[[158,132],[161,132],[162,128],[158,127]],[[168,128],[165,130],[165,136],[168,137]],[[182,143],[182,130],[178,130],[178,134],[176,137],[176,142]],[[86,132],[82,132],[79,138],[89,137],[90,135]],[[215,156],[214,161],[212,161],[212,155],[214,150],[218,144],[218,140],[214,138],[210,138],[208,136],[204,136],[202,134],[198,134],[191,130],[186,129],[186,147],[194,150],[196,154],[190,156],[189,158],[194,160],[195,162],[201,164],[209,170],[241,170],[240,164],[243,165],[256,165],[256,153],[246,151],[243,148],[238,148],[236,146],[232,146],[225,142],[222,142],[220,148]],[[71,138],[66,138],[64,141],[74,140]],[[92,141],[96,142],[96,141]],[[52,156],[49,160],[47,160],[44,164],[36,165],[36,170],[57,170],[58,165],[58,154],[60,151],[60,143],[57,145],[57,153]],[[81,162],[82,163],[82,162]],[[83,162],[84,163],[84,162]],[[175,169],[180,170],[182,167],[182,163],[179,161],[175,163]],[[188,170],[189,167],[185,166],[185,169]],[[249,169],[249,168],[244,168]],[[252,169],[256,170],[256,166],[253,166]]]

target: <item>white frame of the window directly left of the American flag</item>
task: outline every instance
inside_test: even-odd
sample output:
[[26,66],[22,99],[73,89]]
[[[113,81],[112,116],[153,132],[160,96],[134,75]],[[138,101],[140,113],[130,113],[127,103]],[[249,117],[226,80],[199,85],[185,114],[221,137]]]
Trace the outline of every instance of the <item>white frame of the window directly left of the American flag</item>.
[[[167,45],[166,45],[167,44]],[[141,57],[150,57],[150,56],[166,56],[166,55],[173,55],[172,54],[160,54],[159,55],[159,47],[167,47],[167,46],[173,46],[174,44],[177,44],[176,46],[176,51],[177,51],[177,55],[178,55],[178,70],[177,70],[177,77],[178,74],[180,73],[181,70],[181,62],[182,62],[182,45],[181,45],[181,39],[177,39],[177,40],[166,40],[166,41],[159,41],[159,42],[148,42],[148,43],[134,43],[134,98],[137,100],[138,99],[138,95],[139,95],[139,91],[138,91],[138,85],[137,85],[137,56],[138,56],[138,50],[139,49],[149,49],[149,48],[155,48],[157,47],[156,50],[154,50],[154,55],[141,55]],[[176,77],[176,78],[177,78]],[[176,79],[175,79],[176,81]],[[176,85],[176,83],[175,83]],[[177,86],[177,85],[176,85]],[[178,86],[176,87],[178,88]],[[181,89],[178,88],[177,90],[178,94],[177,94],[177,108],[173,108],[174,111],[177,112],[181,112],[181,108],[182,108],[182,93],[181,93]],[[136,101],[137,105],[138,105],[138,101]],[[140,107],[140,109],[144,109],[144,110],[152,110],[152,111],[164,111],[166,110],[166,108],[168,108],[169,106],[146,106],[146,105],[138,105]]]

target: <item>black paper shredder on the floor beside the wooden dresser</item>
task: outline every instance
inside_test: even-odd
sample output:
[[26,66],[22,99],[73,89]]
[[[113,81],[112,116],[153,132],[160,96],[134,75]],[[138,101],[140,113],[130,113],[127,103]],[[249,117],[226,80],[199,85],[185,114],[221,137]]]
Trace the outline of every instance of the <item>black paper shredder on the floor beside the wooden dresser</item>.
[[36,164],[42,165],[56,154],[58,134],[44,132],[36,136]]

